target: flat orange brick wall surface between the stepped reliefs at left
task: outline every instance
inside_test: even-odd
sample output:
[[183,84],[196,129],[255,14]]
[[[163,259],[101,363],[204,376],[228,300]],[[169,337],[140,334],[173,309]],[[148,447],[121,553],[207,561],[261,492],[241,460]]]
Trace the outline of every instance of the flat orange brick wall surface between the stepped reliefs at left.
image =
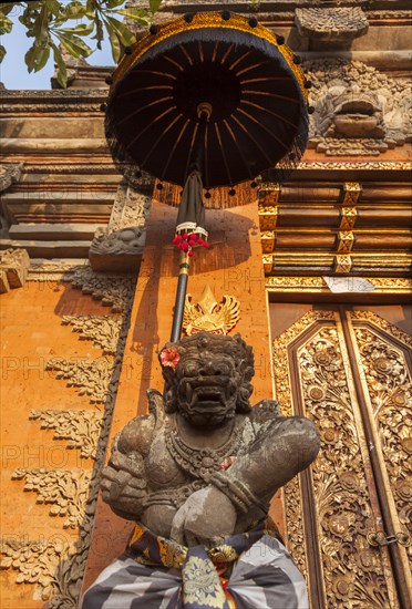
[[[1,537],[17,543],[75,541],[79,531],[63,529],[64,518],[50,516],[50,505],[37,503],[35,492],[23,492],[24,481],[13,481],[17,468],[91,469],[66,442],[53,440],[29,420],[31,410],[94,410],[66,381],[44,370],[53,357],[97,359],[102,351],[61,324],[62,316],[113,314],[107,307],[66,283],[28,282],[1,296]],[[18,571],[1,571],[1,609],[43,607],[35,585],[16,584]]]

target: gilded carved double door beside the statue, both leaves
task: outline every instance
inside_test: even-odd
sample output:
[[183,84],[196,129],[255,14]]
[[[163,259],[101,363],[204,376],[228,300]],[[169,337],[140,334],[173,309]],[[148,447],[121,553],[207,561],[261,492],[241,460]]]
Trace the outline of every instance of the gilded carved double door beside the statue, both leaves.
[[321,436],[315,464],[284,492],[311,609],[412,607],[405,309],[271,304],[281,410],[305,414]]

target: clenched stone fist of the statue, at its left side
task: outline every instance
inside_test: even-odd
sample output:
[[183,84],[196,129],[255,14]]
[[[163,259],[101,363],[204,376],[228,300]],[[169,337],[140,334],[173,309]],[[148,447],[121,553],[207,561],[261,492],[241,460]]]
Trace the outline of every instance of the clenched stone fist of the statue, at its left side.
[[146,497],[143,458],[138,453],[112,453],[102,474],[102,497],[122,517],[136,518]]

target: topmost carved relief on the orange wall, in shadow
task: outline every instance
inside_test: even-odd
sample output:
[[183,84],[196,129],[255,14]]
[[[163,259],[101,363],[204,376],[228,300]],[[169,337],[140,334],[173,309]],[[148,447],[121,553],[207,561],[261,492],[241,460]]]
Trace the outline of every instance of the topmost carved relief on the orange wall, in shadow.
[[134,280],[130,277],[107,276],[94,272],[90,266],[80,266],[74,271],[63,275],[62,281],[68,281],[73,288],[91,295],[94,300],[111,307],[113,312],[122,313],[132,289]]

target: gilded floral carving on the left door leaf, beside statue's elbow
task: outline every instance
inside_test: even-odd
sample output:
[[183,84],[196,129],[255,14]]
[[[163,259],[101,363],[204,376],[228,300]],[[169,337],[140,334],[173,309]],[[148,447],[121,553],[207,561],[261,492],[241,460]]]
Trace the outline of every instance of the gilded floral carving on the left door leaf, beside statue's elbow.
[[[309,311],[274,341],[276,394],[287,415],[293,414],[288,348],[317,320],[334,322],[334,313]],[[312,464],[312,481],[327,605],[395,607],[388,601],[393,598],[384,580],[382,555],[367,540],[373,518],[337,329],[330,324],[321,328],[299,349],[298,361],[306,414],[318,425],[322,438],[320,455]],[[285,508],[289,549],[307,574],[300,484],[292,481],[284,488]]]

